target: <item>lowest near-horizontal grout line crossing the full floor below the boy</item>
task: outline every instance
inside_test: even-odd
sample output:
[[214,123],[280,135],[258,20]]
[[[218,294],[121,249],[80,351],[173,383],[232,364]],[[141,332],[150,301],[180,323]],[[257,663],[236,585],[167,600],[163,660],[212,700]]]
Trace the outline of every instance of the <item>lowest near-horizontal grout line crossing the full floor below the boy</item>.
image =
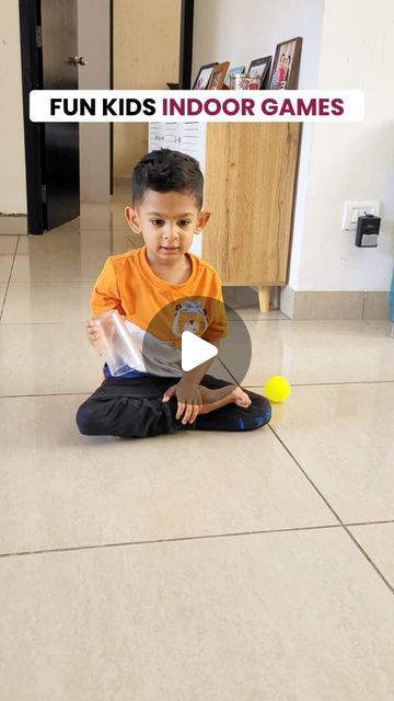
[[[83,550],[104,550],[107,548],[129,548],[135,545],[153,545],[160,543],[173,543],[173,542],[187,542],[195,540],[216,540],[219,538],[239,538],[245,536],[266,536],[269,533],[292,533],[292,532],[303,532],[310,530],[326,530],[332,528],[344,528],[344,527],[355,527],[355,526],[379,526],[382,524],[394,524],[394,519],[381,520],[381,521],[357,521],[355,524],[326,524],[323,526],[296,526],[293,528],[268,528],[264,530],[251,530],[251,531],[234,531],[231,533],[209,533],[207,536],[184,536],[178,538],[160,538],[160,539],[151,539],[151,540],[130,540],[130,541],[120,541],[115,543],[101,543],[93,545],[74,545],[70,548],[49,548],[47,550],[26,550],[26,551],[16,551],[9,553],[0,553],[0,560],[5,558],[24,558],[28,555],[45,555],[57,552],[79,552]],[[373,564],[373,563],[372,563]]]

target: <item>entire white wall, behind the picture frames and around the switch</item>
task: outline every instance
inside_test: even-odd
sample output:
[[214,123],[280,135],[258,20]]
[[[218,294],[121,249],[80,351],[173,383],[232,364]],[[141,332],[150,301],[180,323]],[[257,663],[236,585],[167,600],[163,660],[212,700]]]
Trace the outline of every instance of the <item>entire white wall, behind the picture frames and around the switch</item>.
[[[394,4],[391,0],[196,0],[193,78],[212,60],[245,64],[303,37],[299,88],[361,88],[361,124],[303,127],[289,286],[386,290],[393,269]],[[382,203],[378,249],[341,231],[346,199]]]

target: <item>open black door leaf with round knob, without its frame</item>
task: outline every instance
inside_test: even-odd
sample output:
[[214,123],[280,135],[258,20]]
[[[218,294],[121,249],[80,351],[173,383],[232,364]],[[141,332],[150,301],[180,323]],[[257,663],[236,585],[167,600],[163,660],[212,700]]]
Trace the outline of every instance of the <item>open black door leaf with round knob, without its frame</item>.
[[[78,90],[77,22],[77,0],[40,0],[44,90]],[[43,129],[44,226],[54,229],[80,214],[79,125]]]

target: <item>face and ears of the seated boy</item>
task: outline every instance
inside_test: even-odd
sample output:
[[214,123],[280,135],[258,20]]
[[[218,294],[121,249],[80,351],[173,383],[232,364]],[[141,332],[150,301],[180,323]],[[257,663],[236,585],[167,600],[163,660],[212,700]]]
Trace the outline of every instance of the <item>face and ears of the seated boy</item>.
[[199,211],[186,193],[148,189],[135,209],[126,207],[126,219],[141,233],[149,253],[160,261],[179,260],[193,243],[194,233],[207,225],[209,211]]

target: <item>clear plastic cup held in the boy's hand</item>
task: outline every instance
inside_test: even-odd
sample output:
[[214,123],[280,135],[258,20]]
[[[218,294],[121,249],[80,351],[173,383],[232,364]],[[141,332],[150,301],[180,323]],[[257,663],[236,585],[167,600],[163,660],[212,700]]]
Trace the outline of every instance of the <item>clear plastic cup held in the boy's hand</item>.
[[140,350],[132,343],[121,317],[116,310],[92,320],[101,335],[103,355],[113,376],[126,375],[143,367]]

